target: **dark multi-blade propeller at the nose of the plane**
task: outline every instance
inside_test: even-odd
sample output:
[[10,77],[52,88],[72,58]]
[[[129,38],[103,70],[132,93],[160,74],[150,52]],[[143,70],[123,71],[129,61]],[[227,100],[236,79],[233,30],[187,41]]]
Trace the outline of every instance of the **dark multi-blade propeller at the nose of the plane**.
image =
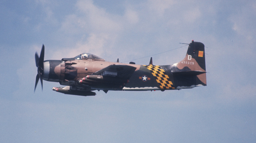
[[[37,67],[37,75],[35,78],[35,88],[40,79],[42,91],[43,91],[43,75],[44,75],[44,44],[42,46],[42,50],[40,56],[38,56],[37,52],[35,52],[35,65]],[[35,92],[35,89],[34,89]]]

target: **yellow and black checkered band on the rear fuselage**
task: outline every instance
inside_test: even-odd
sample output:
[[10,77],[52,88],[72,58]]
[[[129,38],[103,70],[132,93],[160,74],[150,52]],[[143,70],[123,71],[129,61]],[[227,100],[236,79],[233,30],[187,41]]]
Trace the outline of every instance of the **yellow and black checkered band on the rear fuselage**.
[[154,66],[154,65],[143,65],[145,66],[149,71],[151,71],[152,75],[155,77],[157,83],[159,84],[161,89],[174,89],[172,87],[172,82],[169,78],[169,76],[166,74],[166,72],[163,69],[160,69],[160,66]]

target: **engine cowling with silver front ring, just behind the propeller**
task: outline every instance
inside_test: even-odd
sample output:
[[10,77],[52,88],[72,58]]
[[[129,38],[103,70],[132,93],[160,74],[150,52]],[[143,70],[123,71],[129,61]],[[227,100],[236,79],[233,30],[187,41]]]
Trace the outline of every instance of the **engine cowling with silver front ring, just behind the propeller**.
[[59,82],[60,81],[60,68],[62,60],[46,60],[44,61],[44,75],[43,80]]

